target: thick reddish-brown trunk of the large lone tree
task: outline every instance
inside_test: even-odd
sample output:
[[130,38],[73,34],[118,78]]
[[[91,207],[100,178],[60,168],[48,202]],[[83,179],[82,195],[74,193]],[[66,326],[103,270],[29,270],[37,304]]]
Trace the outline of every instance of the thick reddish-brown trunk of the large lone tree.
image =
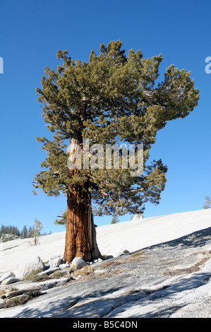
[[[76,143],[76,138],[73,141]],[[72,171],[72,174],[77,173],[80,173],[80,170]],[[99,256],[88,182],[73,184],[67,195],[64,259],[71,263],[75,257],[91,261]]]

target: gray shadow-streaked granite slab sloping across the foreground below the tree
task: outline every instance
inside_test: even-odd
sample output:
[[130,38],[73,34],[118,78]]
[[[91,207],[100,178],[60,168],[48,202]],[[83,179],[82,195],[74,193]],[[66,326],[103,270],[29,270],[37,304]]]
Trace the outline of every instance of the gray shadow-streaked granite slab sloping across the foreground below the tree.
[[62,286],[36,283],[42,295],[0,317],[211,318],[210,239],[211,227],[84,266],[79,280]]

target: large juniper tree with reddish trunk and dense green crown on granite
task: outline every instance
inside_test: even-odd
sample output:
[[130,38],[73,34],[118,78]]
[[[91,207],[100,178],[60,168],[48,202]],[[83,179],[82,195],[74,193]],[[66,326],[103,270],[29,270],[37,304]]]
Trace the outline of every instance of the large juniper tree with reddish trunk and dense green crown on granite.
[[[121,41],[100,45],[99,54],[92,50],[88,61],[73,60],[62,50],[57,59],[61,65],[56,70],[46,67],[42,87],[36,89],[42,117],[53,134],[49,139],[37,138],[47,158],[34,186],[48,196],[63,193],[67,197],[64,259],[90,260],[100,255],[94,213],[143,213],[147,201],[159,203],[167,166],[161,159],[149,162],[150,148],[167,121],[193,111],[199,92],[191,72],[173,64],[163,81],[157,81],[162,55],[147,59],[133,49],[126,55]],[[119,168],[114,162],[112,167],[78,167],[77,160],[75,167],[68,167],[68,153],[76,153],[76,149],[66,153],[68,146],[79,147],[83,153],[85,142],[133,145],[135,158],[138,145],[143,144],[143,172],[131,176],[130,167],[122,166],[121,149]]]

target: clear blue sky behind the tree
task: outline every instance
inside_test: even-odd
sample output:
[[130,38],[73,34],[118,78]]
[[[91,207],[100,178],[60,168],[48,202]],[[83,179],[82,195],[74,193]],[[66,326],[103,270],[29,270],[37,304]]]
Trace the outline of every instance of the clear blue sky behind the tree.
[[[56,215],[66,198],[32,194],[32,179],[40,171],[44,152],[35,136],[47,136],[35,88],[44,67],[56,69],[58,49],[73,59],[88,60],[100,43],[122,40],[123,48],[140,49],[144,57],[162,54],[160,79],[170,64],[191,70],[200,90],[198,107],[186,119],[171,121],[157,135],[151,158],[168,165],[168,182],[158,206],[147,204],[145,218],[203,208],[211,196],[210,1],[143,0],[8,0],[0,8],[1,187],[0,225],[33,225],[59,232]],[[130,217],[130,216],[129,216]],[[128,215],[120,218],[128,220]],[[95,218],[97,225],[111,222]]]

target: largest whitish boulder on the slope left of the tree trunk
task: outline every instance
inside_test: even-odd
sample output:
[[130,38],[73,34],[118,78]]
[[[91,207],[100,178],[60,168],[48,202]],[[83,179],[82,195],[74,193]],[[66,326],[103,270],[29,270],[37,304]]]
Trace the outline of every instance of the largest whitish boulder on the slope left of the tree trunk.
[[25,279],[32,271],[42,270],[44,271],[46,267],[42,259],[39,256],[34,257],[30,261],[26,261],[23,266],[18,266],[16,270],[16,277],[20,280]]

